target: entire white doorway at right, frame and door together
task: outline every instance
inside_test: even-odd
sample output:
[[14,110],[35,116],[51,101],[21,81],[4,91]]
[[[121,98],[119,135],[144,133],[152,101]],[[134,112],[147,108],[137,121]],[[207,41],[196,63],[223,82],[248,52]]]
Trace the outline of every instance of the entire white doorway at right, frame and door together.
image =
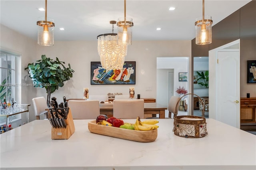
[[240,128],[240,40],[209,51],[209,118]]

